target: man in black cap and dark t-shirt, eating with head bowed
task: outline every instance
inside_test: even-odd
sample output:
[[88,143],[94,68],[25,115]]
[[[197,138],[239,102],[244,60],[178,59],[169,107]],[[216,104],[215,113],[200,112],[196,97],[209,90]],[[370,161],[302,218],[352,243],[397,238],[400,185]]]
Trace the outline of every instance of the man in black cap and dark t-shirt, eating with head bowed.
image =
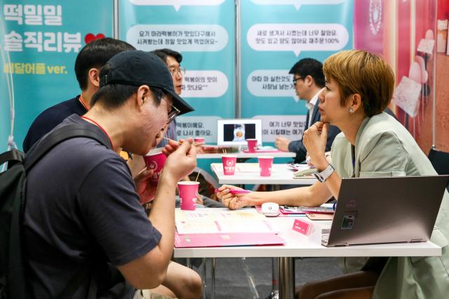
[[161,284],[173,253],[175,187],[196,166],[196,151],[191,139],[163,149],[169,156],[149,216],[139,196],[146,194],[146,181],[134,184],[118,152],[145,155],[167,121],[189,111],[155,55],[126,51],[107,62],[91,109],[58,127],[91,124],[113,150],[90,138],[72,138],[27,174],[23,247],[32,297],[59,297],[85,269],[88,275],[72,298],[88,298],[89,291],[95,298],[133,298],[136,288]]

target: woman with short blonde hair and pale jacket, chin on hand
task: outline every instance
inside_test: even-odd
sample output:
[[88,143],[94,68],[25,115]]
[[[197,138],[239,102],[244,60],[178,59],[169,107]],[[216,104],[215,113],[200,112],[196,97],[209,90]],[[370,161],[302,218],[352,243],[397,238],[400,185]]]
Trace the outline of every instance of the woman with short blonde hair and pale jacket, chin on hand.
[[[337,199],[342,178],[435,175],[429,159],[406,128],[383,112],[394,90],[391,67],[366,51],[342,51],[323,65],[326,88],[319,95],[321,122],[304,132],[304,146],[322,182],[276,192],[218,196],[229,208],[267,201],[291,206],[319,206]],[[340,128],[325,157],[328,126]],[[364,271],[307,284],[303,298],[445,298],[449,293],[449,194],[445,192],[431,241],[443,247],[441,257],[370,258]],[[444,295],[446,294],[446,295]]]

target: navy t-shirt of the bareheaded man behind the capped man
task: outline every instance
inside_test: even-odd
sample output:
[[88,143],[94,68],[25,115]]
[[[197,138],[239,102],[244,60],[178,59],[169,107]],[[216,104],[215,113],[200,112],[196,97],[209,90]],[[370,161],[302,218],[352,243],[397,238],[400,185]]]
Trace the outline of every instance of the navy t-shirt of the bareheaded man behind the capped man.
[[23,140],[23,151],[28,152],[37,140],[53,130],[55,126],[58,126],[70,115],[78,114],[81,116],[86,112],[86,108],[79,102],[79,95],[46,109],[34,119],[33,124],[29,127]]

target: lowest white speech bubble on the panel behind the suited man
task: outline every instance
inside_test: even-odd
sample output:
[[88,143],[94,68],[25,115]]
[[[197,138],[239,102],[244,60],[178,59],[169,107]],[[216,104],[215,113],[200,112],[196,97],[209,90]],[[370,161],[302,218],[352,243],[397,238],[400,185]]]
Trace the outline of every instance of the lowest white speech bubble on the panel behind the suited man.
[[263,142],[274,142],[278,135],[300,140],[306,125],[305,115],[255,115],[253,119],[262,119]]

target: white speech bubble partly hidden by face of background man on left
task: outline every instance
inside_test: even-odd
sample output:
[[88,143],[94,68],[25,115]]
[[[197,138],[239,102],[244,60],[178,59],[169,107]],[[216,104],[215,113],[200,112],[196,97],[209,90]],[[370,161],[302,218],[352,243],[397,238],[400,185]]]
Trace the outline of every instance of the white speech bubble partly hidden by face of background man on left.
[[182,81],[182,98],[218,98],[229,86],[220,71],[187,71]]

